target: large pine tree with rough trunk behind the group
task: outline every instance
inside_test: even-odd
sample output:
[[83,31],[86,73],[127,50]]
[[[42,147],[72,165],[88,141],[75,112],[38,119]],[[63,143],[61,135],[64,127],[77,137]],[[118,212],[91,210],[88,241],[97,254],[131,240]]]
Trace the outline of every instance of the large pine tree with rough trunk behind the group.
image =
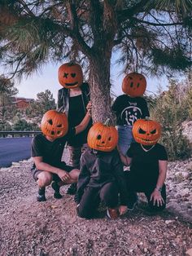
[[186,71],[191,13],[191,0],[2,0],[0,57],[19,77],[48,62],[85,65],[94,121],[106,121],[112,53],[126,72]]

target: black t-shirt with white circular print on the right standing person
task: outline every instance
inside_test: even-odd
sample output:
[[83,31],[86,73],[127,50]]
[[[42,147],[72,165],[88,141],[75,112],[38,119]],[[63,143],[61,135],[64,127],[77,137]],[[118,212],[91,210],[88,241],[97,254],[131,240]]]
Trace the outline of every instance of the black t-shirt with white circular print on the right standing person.
[[150,116],[146,100],[142,97],[120,95],[112,105],[112,110],[116,113],[116,124],[119,126],[133,126],[137,119]]

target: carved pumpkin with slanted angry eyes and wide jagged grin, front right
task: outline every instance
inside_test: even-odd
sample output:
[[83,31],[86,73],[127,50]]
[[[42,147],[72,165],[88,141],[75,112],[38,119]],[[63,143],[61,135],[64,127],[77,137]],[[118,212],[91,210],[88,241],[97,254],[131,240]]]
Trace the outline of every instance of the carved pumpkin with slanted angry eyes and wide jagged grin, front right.
[[155,145],[158,142],[161,135],[161,126],[159,122],[138,119],[133,124],[133,137],[137,143],[142,145]]

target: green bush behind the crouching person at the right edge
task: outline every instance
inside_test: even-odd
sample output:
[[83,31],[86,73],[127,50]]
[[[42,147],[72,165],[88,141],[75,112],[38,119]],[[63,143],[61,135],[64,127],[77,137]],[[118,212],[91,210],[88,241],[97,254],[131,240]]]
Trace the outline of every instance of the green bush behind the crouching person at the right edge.
[[168,91],[160,91],[151,108],[151,117],[162,126],[160,142],[167,148],[170,160],[190,157],[190,143],[182,135],[182,122],[189,117],[185,105],[188,96],[185,92],[185,83],[171,81]]

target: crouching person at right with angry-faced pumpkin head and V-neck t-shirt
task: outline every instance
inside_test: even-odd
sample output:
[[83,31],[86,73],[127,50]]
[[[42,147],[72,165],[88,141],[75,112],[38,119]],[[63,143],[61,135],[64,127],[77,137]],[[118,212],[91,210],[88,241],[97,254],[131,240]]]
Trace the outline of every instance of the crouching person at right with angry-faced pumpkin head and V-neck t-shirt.
[[144,192],[149,210],[164,210],[166,206],[165,179],[168,155],[163,145],[158,143],[161,127],[157,121],[139,119],[133,125],[133,137],[127,152],[130,171],[124,172],[129,190],[128,209],[137,204],[137,192]]

